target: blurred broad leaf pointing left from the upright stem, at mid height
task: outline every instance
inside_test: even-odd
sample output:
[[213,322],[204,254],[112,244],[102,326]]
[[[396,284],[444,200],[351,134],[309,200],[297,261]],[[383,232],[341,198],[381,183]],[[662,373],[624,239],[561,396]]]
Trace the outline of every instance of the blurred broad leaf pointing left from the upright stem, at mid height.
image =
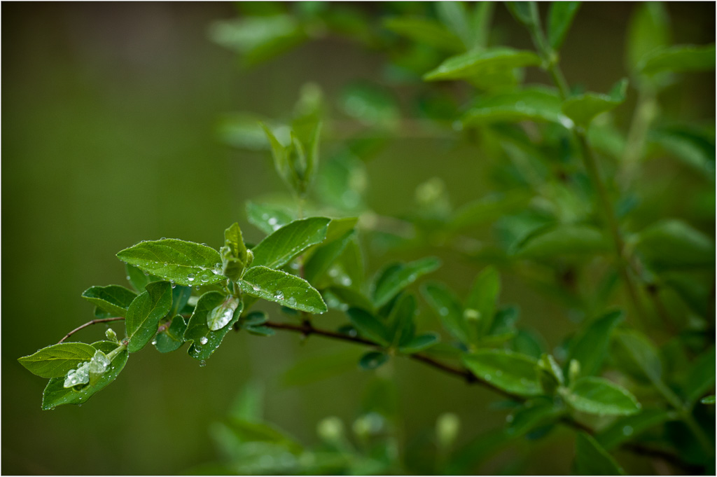
[[607,235],[589,225],[544,227],[528,235],[515,250],[519,258],[551,258],[565,255],[595,255],[610,252]]

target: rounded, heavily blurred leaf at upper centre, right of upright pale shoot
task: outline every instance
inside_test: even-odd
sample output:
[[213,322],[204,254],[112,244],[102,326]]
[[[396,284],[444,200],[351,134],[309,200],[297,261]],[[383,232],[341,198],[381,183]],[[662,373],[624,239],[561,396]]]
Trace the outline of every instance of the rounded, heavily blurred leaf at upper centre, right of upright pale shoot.
[[392,128],[401,118],[394,95],[368,82],[348,85],[342,91],[338,105],[343,113],[368,125]]

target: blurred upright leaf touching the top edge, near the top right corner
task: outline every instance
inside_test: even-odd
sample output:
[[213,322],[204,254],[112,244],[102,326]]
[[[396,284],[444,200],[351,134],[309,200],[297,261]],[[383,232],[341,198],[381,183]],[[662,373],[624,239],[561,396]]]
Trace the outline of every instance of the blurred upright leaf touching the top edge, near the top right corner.
[[670,44],[670,19],[665,5],[650,1],[635,4],[634,8],[625,49],[625,62],[629,70],[636,70],[647,53]]

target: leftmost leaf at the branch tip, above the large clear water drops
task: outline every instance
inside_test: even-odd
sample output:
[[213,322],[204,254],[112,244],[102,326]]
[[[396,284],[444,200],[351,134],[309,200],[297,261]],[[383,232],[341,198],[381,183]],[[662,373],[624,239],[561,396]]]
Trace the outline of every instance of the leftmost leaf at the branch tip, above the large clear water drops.
[[18,361],[32,374],[39,377],[64,377],[78,364],[90,361],[95,348],[85,343],[59,343],[39,349]]

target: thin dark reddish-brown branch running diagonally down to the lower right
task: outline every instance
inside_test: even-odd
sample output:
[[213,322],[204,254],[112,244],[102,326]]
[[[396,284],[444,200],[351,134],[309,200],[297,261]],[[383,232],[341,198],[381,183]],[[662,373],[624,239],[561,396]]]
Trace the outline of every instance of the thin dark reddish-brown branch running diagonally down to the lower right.
[[[263,326],[267,326],[267,328],[277,330],[294,331],[295,333],[300,333],[305,337],[315,334],[318,336],[325,336],[326,338],[338,339],[340,341],[348,341],[349,343],[362,344],[378,349],[381,349],[383,347],[375,341],[359,338],[359,336],[351,336],[348,334],[338,333],[337,331],[329,331],[315,328],[309,322],[304,322],[300,325],[294,325],[291,323],[275,323],[273,321],[267,321],[266,323],[264,323]],[[513,395],[512,393],[504,391],[499,387],[495,387],[494,384],[480,379],[467,369],[452,367],[450,366],[450,364],[445,364],[440,361],[437,361],[436,359],[427,356],[426,354],[410,354],[409,358],[415,359],[416,361],[422,362],[423,364],[427,364],[428,366],[438,369],[441,372],[445,372],[446,374],[450,374],[451,376],[464,379],[467,384],[480,384],[480,386],[491,389],[493,392],[496,392],[497,394],[502,395],[503,397],[508,398],[510,400],[517,402],[526,401],[526,397]],[[565,416],[561,418],[560,422],[570,428],[574,428],[575,430],[582,430],[590,435],[595,435],[595,431],[592,428],[583,424],[582,422],[574,420],[571,417]],[[661,458],[664,461],[672,464],[673,466],[683,469],[685,471],[689,471],[690,473],[694,473],[695,470],[697,470],[698,473],[701,473],[701,471],[703,471],[701,467],[698,468],[698,466],[694,466],[693,464],[685,463],[680,459],[678,455],[666,452],[665,450],[653,449],[637,443],[626,443],[622,445],[622,448],[635,454],[646,455],[652,458]]]

